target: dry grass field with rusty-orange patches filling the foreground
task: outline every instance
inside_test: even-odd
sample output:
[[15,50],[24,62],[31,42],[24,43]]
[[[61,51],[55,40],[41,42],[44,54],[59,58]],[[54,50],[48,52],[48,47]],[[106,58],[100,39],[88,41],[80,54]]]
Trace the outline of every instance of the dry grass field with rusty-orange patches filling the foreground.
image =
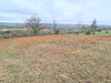
[[0,39],[0,83],[111,83],[111,34]]

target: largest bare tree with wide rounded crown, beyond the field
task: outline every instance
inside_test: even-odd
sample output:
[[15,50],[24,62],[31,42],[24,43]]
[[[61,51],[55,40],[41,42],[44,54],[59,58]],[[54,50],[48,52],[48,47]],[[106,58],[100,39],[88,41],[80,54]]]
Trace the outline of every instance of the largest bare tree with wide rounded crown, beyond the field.
[[39,34],[39,31],[42,29],[41,19],[34,14],[30,19],[27,19],[26,27],[33,31],[33,34]]

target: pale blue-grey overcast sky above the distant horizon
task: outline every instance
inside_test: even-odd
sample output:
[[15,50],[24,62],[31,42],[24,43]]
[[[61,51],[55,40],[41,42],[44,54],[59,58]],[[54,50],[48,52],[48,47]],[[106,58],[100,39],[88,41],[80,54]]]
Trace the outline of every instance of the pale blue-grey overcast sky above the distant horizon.
[[111,25],[111,0],[0,0],[0,21],[26,21],[38,13],[42,22]]

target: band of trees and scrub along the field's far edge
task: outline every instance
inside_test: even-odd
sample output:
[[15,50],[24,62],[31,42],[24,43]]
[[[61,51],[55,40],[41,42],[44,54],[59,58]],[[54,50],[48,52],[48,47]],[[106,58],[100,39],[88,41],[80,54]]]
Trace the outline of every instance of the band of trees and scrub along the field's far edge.
[[[93,20],[91,27],[85,27],[81,24],[81,21],[79,21],[79,24],[77,24],[77,30],[73,29],[62,29],[58,27],[58,22],[56,19],[52,20],[52,25],[46,25],[42,23],[41,18],[39,18],[37,14],[33,14],[29,19],[26,20],[26,29],[20,31],[4,31],[0,32],[0,38],[17,38],[17,37],[30,37],[30,35],[39,35],[39,34],[59,34],[59,33],[73,33],[73,34],[94,34],[95,31],[99,30],[97,25],[95,19]],[[44,31],[44,30],[49,30]],[[108,32],[105,32],[108,33]]]

